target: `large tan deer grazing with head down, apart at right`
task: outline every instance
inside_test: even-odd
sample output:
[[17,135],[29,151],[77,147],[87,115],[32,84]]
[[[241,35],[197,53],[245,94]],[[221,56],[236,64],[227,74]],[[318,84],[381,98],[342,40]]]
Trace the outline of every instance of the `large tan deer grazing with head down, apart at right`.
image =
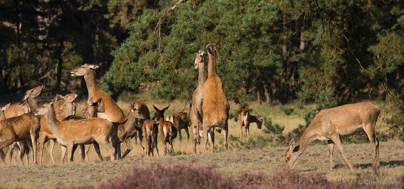
[[371,143],[373,143],[372,167],[380,165],[379,140],[375,136],[375,125],[380,108],[371,103],[347,104],[339,107],[321,110],[299,140],[289,142],[289,148],[285,152],[285,168],[292,169],[297,158],[306,150],[310,143],[315,140],[328,141],[329,168],[332,169],[332,153],[334,144],[338,152],[345,160],[349,169],[354,168],[349,163],[342,150],[340,136],[352,136],[364,131]]

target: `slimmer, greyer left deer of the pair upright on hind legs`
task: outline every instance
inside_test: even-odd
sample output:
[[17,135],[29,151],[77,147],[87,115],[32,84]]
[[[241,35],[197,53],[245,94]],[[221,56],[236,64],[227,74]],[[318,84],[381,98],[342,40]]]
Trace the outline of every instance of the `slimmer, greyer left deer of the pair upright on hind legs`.
[[196,53],[194,68],[199,69],[198,86],[192,94],[192,106],[189,112],[189,119],[191,121],[193,152],[196,153],[196,145],[200,144],[201,133],[199,133],[199,130],[202,127],[202,117],[204,115],[202,111],[202,104],[204,102],[204,84],[208,78],[205,71],[205,52],[203,50],[199,50],[198,53]]

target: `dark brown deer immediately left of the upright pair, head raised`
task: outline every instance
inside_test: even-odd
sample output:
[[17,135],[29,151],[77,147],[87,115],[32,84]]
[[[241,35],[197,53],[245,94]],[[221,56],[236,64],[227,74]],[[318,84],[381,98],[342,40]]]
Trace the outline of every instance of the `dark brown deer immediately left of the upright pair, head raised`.
[[[189,113],[188,112],[190,112],[191,107],[192,107],[191,103],[187,102],[187,105],[182,110],[183,112],[169,114],[166,118],[166,121],[169,121],[174,124],[175,128],[178,131],[180,141],[182,141],[181,129],[185,130],[187,140],[189,140],[189,131],[188,131]],[[184,112],[184,111],[186,111],[186,112]]]

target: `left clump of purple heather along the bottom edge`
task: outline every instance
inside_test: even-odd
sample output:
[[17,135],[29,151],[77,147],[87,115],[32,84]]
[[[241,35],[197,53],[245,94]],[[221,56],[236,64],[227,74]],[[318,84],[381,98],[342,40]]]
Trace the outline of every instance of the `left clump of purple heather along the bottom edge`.
[[133,168],[133,171],[115,182],[99,188],[246,188],[234,178],[222,176],[213,168],[189,166]]

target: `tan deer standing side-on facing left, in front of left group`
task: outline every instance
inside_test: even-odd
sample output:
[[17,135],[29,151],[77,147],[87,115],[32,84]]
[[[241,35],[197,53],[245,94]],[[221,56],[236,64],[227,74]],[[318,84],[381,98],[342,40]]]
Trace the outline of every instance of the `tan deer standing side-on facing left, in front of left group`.
[[43,104],[34,111],[35,115],[45,115],[49,129],[55,134],[59,143],[66,146],[69,161],[73,160],[73,146],[91,144],[96,141],[110,153],[114,160],[114,148],[109,143],[112,123],[102,118],[69,120],[60,122],[56,119],[54,103],[58,97]]

